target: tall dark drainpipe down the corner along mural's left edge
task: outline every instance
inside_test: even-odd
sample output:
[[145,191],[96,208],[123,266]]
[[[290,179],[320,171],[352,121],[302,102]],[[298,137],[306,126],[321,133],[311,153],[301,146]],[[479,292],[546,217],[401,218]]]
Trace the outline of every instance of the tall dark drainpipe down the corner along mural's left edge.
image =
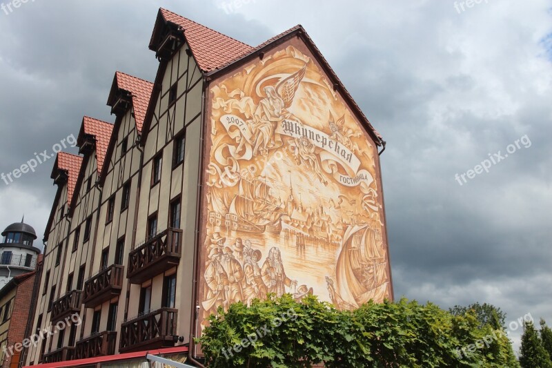
[[197,282],[199,280],[199,226],[201,224],[201,204],[203,204],[203,157],[204,157],[204,126],[205,126],[205,117],[206,117],[206,89],[207,81],[204,77],[204,87],[203,93],[201,96],[201,128],[199,130],[199,144],[201,145],[201,150],[199,154],[199,168],[197,169],[197,198],[196,198],[196,211],[195,211],[195,240],[194,240],[194,268],[193,268],[193,285],[192,285],[192,318],[190,321],[190,348],[188,349],[188,358],[190,362],[193,362],[200,368],[204,368],[200,362],[195,360],[194,356],[196,353],[196,345],[194,342],[195,336],[197,336],[197,321],[199,320],[199,304],[197,303]]

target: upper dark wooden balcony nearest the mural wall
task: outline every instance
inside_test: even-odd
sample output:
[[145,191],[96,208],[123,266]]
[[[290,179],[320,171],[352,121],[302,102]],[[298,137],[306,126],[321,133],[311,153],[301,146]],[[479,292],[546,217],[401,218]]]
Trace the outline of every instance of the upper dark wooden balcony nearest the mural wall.
[[126,277],[132,284],[141,284],[177,266],[182,252],[181,243],[181,229],[169,228],[152,236],[143,245],[130,251]]

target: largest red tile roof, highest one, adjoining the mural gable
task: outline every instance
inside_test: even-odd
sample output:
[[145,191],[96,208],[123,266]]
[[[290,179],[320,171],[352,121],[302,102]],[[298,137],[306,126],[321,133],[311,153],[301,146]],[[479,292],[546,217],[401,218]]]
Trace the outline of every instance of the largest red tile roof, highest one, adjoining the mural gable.
[[184,28],[184,37],[195,56],[197,65],[204,72],[220,68],[253,50],[246,43],[195,23],[195,21],[190,21],[190,19],[169,10],[161,8],[159,11],[165,21]]

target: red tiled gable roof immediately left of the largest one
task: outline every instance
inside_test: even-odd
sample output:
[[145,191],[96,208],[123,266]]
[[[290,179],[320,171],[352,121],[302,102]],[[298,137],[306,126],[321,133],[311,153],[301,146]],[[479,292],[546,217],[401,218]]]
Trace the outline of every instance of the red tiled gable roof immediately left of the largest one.
[[124,72],[116,72],[115,80],[117,81],[117,88],[127,90],[132,94],[132,107],[134,108],[136,128],[138,133],[141,133],[148,104],[150,103],[153,84],[150,81],[132,77],[132,75]]

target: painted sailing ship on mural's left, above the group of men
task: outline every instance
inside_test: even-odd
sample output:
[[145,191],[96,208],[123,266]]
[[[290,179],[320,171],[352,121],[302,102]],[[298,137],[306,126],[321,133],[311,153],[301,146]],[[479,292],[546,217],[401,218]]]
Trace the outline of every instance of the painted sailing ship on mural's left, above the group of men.
[[260,180],[239,181],[239,193],[234,197],[226,215],[226,226],[247,233],[279,233],[284,214],[281,200],[270,195],[270,186]]

